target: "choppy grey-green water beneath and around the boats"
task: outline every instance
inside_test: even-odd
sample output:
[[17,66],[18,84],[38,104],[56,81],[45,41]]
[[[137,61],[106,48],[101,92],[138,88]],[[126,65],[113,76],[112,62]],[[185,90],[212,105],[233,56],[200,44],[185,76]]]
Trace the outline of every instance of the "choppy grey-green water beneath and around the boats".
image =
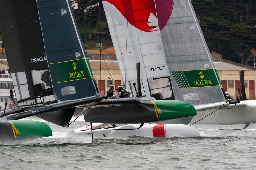
[[65,138],[84,125],[50,125],[53,136],[0,145],[0,169],[256,169],[256,124],[195,125],[201,137],[95,139]]

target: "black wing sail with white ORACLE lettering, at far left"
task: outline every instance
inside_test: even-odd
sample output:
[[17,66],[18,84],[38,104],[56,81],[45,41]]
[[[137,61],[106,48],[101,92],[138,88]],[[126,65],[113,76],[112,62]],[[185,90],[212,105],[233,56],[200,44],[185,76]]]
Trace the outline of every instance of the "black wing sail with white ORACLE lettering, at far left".
[[54,100],[36,1],[0,1],[0,29],[18,105]]

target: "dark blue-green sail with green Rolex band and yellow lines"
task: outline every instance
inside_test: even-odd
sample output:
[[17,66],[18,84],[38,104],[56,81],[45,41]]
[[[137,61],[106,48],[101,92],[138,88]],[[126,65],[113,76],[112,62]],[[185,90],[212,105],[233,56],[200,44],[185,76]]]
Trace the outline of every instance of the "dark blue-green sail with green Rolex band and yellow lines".
[[37,6],[57,100],[98,95],[69,0],[37,0]]

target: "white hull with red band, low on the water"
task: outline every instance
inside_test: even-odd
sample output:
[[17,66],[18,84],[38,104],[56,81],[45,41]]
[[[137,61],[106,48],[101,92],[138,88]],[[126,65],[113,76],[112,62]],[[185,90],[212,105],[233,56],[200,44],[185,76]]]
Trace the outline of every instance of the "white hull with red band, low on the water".
[[[93,123],[96,128],[99,123]],[[101,124],[102,125],[102,124]],[[184,124],[144,124],[140,129],[136,129],[140,124],[129,124],[119,126],[113,129],[131,129],[131,130],[112,130],[112,129],[96,129],[93,130],[94,138],[115,138],[122,139],[129,136],[142,137],[199,137],[200,133],[193,126]],[[87,129],[87,130],[85,130]],[[136,129],[136,130],[132,130]],[[88,126],[84,126],[67,133],[66,137],[91,139],[91,130]]]

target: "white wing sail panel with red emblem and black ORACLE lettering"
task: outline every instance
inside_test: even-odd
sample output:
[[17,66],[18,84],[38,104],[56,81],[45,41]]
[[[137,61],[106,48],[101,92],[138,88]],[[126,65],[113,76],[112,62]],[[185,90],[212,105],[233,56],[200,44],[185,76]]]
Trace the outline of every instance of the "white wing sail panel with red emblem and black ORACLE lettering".
[[[137,1],[103,0],[103,6],[126,88],[136,96],[133,83],[137,83],[136,63],[140,62],[142,94],[150,97],[161,92],[164,99],[171,98],[173,93],[169,81],[170,73],[154,1],[144,4]],[[153,78],[158,77],[166,78],[153,81]],[[159,81],[162,82],[162,87],[157,85],[156,82]]]

